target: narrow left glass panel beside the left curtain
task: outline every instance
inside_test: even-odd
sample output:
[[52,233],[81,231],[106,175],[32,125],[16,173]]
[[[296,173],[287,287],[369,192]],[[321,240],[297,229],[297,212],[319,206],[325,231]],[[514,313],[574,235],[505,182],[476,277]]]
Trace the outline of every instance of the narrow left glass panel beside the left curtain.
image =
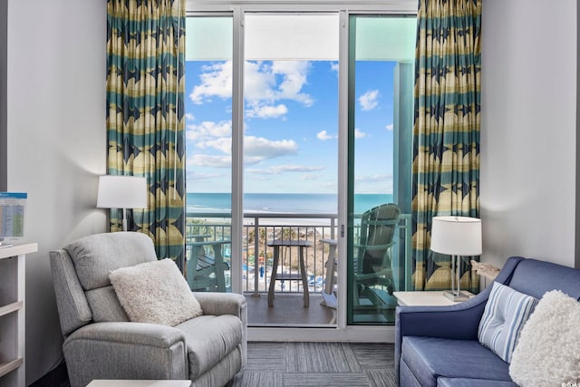
[[233,19],[188,17],[186,31],[185,276],[193,290],[225,292],[232,283]]

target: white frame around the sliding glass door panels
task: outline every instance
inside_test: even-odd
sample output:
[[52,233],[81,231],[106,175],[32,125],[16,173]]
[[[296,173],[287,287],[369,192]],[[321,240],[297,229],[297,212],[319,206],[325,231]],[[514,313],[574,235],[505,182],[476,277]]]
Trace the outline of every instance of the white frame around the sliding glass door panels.
[[[349,74],[349,18],[351,15],[416,15],[416,0],[364,1],[354,4],[345,1],[294,1],[285,0],[187,0],[187,15],[232,15],[233,82],[232,85],[232,251],[243,247],[243,133],[244,133],[244,15],[246,13],[338,13],[340,17],[339,38],[339,121],[338,121],[338,250],[347,251],[347,205],[348,205],[348,74]],[[232,259],[232,291],[241,294],[242,263]],[[346,259],[338,260],[338,305],[336,325],[328,327],[248,327],[250,341],[353,341],[394,342],[392,325],[348,325],[347,320],[347,265]]]

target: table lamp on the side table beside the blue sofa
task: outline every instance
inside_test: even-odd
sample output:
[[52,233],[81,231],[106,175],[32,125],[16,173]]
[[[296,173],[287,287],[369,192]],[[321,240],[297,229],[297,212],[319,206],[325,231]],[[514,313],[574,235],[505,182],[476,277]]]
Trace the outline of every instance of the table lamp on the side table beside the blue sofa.
[[[434,217],[431,226],[431,251],[451,256],[451,290],[445,296],[452,301],[465,301],[469,296],[460,291],[460,256],[481,254],[481,219],[467,217]],[[457,265],[456,265],[457,259]],[[454,283],[457,282],[457,289]]]

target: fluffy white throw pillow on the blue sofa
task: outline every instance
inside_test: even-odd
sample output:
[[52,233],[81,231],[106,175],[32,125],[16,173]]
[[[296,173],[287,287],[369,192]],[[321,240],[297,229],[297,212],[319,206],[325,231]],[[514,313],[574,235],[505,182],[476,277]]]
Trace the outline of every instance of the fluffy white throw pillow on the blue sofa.
[[547,292],[527,320],[509,364],[522,387],[580,385],[580,303]]

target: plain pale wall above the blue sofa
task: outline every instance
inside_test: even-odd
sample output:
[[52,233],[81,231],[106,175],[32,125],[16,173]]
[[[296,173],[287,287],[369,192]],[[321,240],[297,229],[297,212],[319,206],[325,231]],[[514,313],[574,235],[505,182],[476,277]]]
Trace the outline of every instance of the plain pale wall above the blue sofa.
[[482,260],[574,266],[576,0],[485,0],[482,20]]

